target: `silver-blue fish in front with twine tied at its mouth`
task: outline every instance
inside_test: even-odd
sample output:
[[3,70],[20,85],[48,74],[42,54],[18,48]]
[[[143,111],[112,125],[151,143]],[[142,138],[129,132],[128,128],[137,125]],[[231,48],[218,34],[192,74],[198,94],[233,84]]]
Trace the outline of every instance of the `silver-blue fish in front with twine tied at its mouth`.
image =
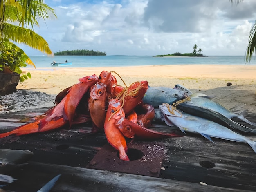
[[[186,114],[182,111],[174,111],[174,115],[171,114],[168,110],[168,107],[171,107],[168,104],[163,104],[159,106],[159,109],[165,114],[165,121],[168,124],[168,121],[171,121],[176,125],[182,132],[192,132],[198,133],[204,136],[205,138],[212,141],[211,137],[221,138],[230,141],[236,142],[245,142],[248,143],[254,152],[256,153],[256,142],[250,140],[249,138],[237,134],[236,132],[231,131],[227,127],[224,127],[213,121],[207,119]],[[212,141],[213,142],[213,141]]]

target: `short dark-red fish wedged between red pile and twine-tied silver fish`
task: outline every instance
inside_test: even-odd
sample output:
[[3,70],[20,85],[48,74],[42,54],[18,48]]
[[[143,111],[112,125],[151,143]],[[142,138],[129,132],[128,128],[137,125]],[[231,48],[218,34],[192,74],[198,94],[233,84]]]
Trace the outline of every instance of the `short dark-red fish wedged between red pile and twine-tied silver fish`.
[[142,110],[143,114],[138,115],[137,123],[141,127],[148,128],[151,124],[151,121],[155,117],[154,107],[149,104],[144,104],[144,105],[142,105],[141,110]]

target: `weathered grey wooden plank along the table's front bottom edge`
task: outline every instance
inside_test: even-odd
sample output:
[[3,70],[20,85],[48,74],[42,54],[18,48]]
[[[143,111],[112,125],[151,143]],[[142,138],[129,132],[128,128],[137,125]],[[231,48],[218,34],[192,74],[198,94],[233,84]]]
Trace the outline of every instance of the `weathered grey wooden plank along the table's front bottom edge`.
[[34,192],[40,189],[47,180],[52,179],[58,174],[61,174],[61,177],[52,189],[54,192],[248,192],[248,190],[236,190],[234,188],[200,185],[199,183],[189,183],[150,176],[140,176],[39,162],[30,162],[25,169],[12,174],[12,176],[18,180],[16,183],[10,184],[9,188],[19,192]]

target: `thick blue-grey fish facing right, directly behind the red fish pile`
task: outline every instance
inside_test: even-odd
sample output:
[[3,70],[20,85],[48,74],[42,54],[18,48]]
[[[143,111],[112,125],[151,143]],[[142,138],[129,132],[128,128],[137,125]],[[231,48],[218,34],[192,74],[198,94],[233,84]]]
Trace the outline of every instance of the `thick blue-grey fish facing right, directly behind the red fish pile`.
[[182,100],[188,97],[186,91],[180,91],[177,89],[167,87],[149,87],[143,97],[143,102],[158,107],[162,103],[168,103],[172,105],[178,100]]

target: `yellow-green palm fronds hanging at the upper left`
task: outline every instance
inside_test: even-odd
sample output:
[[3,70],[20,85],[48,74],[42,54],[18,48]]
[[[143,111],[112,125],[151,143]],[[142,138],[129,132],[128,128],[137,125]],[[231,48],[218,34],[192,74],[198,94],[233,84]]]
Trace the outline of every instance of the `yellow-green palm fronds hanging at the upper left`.
[[[0,0],[0,39],[27,45],[42,53],[52,54],[45,39],[33,31],[38,19],[57,18],[54,9],[43,0]],[[12,23],[17,23],[13,25]],[[29,64],[34,65],[32,62]]]

